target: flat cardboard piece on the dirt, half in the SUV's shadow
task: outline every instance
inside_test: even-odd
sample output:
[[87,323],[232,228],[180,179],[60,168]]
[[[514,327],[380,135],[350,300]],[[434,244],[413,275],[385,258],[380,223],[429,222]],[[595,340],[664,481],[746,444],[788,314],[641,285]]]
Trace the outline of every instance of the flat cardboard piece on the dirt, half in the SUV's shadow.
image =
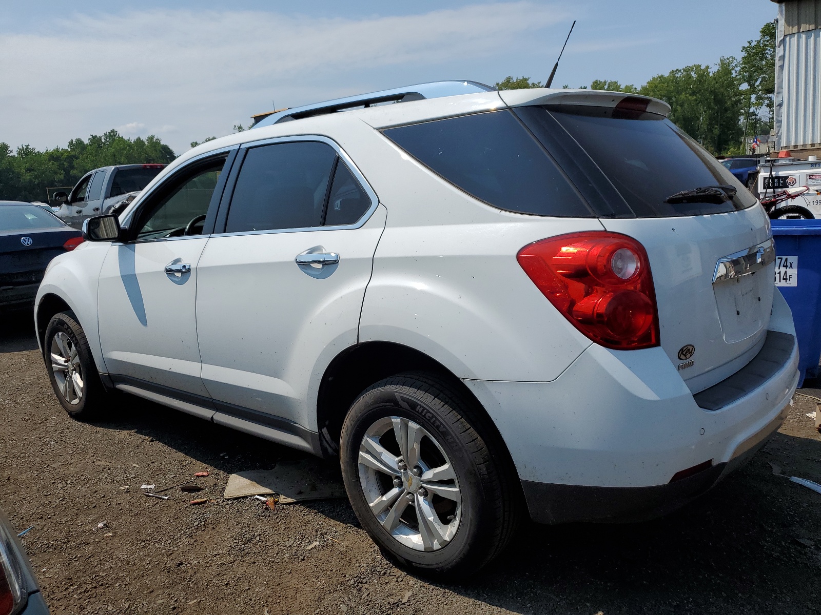
[[342,476],[333,464],[320,459],[279,462],[273,470],[247,470],[228,476],[225,499],[250,495],[279,495],[279,503],[345,498]]

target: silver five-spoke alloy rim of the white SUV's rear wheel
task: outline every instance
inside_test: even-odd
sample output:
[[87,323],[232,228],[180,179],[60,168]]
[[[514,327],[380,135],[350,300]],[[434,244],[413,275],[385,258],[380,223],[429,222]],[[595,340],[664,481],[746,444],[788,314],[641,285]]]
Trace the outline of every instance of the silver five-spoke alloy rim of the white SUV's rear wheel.
[[461,518],[456,472],[428,430],[383,417],[362,438],[359,476],[371,512],[410,549],[436,551],[453,540]]

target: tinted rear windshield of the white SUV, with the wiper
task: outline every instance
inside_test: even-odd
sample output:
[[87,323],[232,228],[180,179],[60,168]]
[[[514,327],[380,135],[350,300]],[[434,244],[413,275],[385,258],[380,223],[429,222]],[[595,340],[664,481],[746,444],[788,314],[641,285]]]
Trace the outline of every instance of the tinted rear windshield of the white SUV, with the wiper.
[[[725,166],[662,116],[619,118],[599,107],[544,112],[585,149],[636,216],[732,212],[755,203]],[[665,203],[672,194],[709,185],[732,185],[738,192],[726,203]]]

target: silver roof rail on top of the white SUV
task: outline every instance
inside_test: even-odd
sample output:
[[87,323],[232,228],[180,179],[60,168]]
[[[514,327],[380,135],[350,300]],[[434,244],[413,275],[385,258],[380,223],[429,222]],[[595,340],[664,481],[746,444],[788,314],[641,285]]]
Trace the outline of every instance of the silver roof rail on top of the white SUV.
[[404,88],[383,89],[380,92],[371,92],[349,96],[347,98],[335,98],[323,103],[312,103],[302,107],[282,109],[276,112],[259,113],[251,116],[254,120],[252,128],[261,128],[277,124],[282,121],[301,120],[304,117],[321,116],[327,113],[347,111],[358,107],[371,107],[382,103],[407,103],[411,100],[424,100],[426,98],[443,98],[445,96],[458,96],[459,94],[470,94],[479,92],[492,92],[495,88],[489,85],[480,84],[478,81],[432,81],[427,84],[407,85]]

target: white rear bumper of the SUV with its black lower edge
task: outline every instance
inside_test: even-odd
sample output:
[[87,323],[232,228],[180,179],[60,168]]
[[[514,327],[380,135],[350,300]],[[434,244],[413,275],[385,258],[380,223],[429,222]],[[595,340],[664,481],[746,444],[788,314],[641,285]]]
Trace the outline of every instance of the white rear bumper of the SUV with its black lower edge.
[[[791,338],[786,316],[774,324]],[[783,345],[785,336],[773,339]],[[593,345],[551,382],[464,381],[498,426],[535,521],[635,521],[704,493],[777,431],[798,383],[791,339],[764,376],[754,360],[719,383],[741,386],[741,394],[725,386],[702,396],[714,409],[699,407],[661,348]],[[673,481],[708,462],[708,470]]]

